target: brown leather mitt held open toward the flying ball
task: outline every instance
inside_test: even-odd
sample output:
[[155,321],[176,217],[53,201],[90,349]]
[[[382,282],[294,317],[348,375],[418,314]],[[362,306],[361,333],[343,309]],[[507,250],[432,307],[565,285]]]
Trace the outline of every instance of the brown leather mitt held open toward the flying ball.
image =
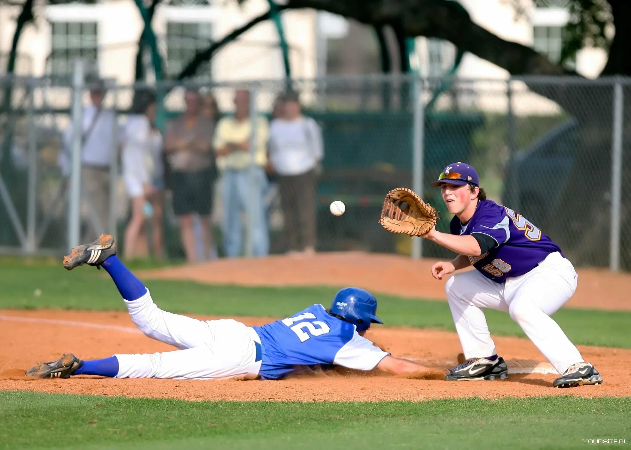
[[384,199],[379,223],[392,233],[423,236],[438,219],[436,210],[408,188],[392,189]]

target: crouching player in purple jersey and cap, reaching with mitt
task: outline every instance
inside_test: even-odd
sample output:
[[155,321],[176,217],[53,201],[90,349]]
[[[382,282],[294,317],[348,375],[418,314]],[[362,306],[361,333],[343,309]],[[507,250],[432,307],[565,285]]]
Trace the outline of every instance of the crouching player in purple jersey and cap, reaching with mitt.
[[447,301],[466,361],[445,376],[449,381],[508,378],[497,355],[482,308],[505,311],[562,374],[558,388],[603,383],[603,378],[550,318],[576,290],[577,274],[557,244],[526,217],[487,200],[478,173],[465,163],[445,167],[432,183],[454,217],[451,234],[436,231],[435,209],[410,189],[388,193],[380,223],[388,231],[422,236],[456,253],[432,266],[445,284]]

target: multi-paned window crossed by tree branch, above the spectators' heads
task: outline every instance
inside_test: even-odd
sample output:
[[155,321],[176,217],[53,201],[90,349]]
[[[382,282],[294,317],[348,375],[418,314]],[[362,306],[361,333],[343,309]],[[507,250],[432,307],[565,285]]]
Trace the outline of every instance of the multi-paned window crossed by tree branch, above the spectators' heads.
[[[211,24],[209,22],[167,23],[167,73],[175,77],[194,58],[198,50],[208,48],[211,42]],[[210,65],[202,71],[207,78]]]

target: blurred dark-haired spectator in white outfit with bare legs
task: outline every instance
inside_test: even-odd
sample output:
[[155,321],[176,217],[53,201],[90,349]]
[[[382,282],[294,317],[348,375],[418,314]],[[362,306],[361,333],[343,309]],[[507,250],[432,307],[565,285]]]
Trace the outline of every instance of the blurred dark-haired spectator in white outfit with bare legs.
[[[131,220],[125,231],[126,257],[138,256],[138,238],[150,212],[153,250],[163,256],[162,243],[162,136],[155,128],[156,101],[150,91],[138,90],[127,117],[122,148],[122,172],[131,199]],[[147,211],[149,210],[149,211]]]

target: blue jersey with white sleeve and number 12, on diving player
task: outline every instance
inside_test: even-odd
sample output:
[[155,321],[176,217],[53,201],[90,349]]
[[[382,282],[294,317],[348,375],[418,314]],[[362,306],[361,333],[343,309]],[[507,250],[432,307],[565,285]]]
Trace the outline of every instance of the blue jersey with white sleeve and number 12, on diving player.
[[370,370],[389,355],[358,335],[355,325],[331,316],[321,304],[252,328],[261,338],[262,379],[284,378],[332,364]]

